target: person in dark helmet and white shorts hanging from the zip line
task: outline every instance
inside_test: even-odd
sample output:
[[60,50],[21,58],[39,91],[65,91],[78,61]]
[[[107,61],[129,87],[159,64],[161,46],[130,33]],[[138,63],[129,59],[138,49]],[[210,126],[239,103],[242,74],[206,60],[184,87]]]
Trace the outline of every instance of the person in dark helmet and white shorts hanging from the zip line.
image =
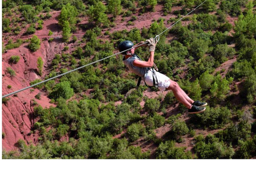
[[[123,52],[124,55],[123,62],[129,68],[131,72],[139,75],[142,80],[145,81],[148,86],[153,86],[153,69],[149,69],[148,67],[152,67],[154,63],[154,54],[155,54],[155,46],[156,41],[154,38],[150,38],[146,40],[147,44],[143,44],[145,42],[141,41],[133,47],[133,43],[131,41],[123,41],[118,45],[119,52]],[[143,44],[143,45],[141,45]],[[150,56],[148,61],[141,61],[140,57],[136,55],[134,52],[138,48],[137,46],[149,46]],[[131,48],[131,49],[130,49]],[[172,90],[174,96],[188,108],[188,113],[201,113],[205,111],[205,107],[207,103],[203,103],[201,101],[194,101],[188,97],[188,95],[180,88],[179,84],[175,81],[172,81],[170,78],[166,77],[166,75],[156,72],[156,78],[158,80],[158,88],[161,91]]]

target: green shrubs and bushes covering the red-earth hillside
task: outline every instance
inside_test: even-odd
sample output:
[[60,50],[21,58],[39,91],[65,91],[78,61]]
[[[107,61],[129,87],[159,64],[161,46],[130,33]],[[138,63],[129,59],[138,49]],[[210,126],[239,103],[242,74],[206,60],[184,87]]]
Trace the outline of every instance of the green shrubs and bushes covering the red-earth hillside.
[[[132,16],[133,13],[149,13],[158,4],[164,15],[177,15],[177,18],[167,21],[174,23],[202,2],[46,0],[42,3],[7,0],[3,1],[3,32],[14,35],[19,31],[17,27],[25,28],[30,24],[27,33],[33,34],[35,25],[31,23],[46,20],[50,11],[61,10],[58,20],[63,40],[75,43],[77,47],[72,53],[66,52],[67,48],[61,54],[55,54],[52,70],[45,77],[49,79],[113,55],[123,40],[135,44],[166,29],[164,20],[159,19],[154,20],[149,28],[106,31],[102,35],[103,28],[114,27],[118,16],[134,21],[137,18]],[[39,134],[39,144],[29,143],[27,146],[25,141],[19,140],[16,143],[19,150],[3,151],[3,158],[147,159],[150,154],[159,159],[255,157],[255,5],[256,1],[209,0],[199,7],[198,13],[186,18],[188,24],[179,22],[161,35],[155,50],[155,64],[161,73],[177,81],[192,99],[209,103],[204,113],[189,115],[184,121],[182,118],[187,113],[182,105],[177,107],[177,112],[166,113],[170,106],[175,107],[178,103],[172,92],[162,100],[161,96],[143,97],[145,86],[129,91],[135,88],[138,77],[127,73],[122,56],[112,57],[35,87],[47,92],[57,106],[43,108],[36,104],[33,116],[38,122],[33,124],[31,133]],[[172,11],[173,6],[182,8]],[[16,17],[16,14],[21,14],[21,17]],[[88,17],[89,23],[79,24],[79,18],[84,16]],[[238,17],[234,26],[227,16]],[[71,32],[78,27],[85,30],[83,38],[70,40]],[[170,40],[171,36],[175,38]],[[10,40],[5,48],[17,48],[22,43],[25,42],[17,40],[18,45],[14,45]],[[28,47],[35,51],[40,43],[33,36]],[[145,47],[140,47],[136,53],[147,60],[149,54],[146,51]],[[221,74],[226,70],[215,71],[234,57],[236,62],[227,74]],[[19,60],[13,57],[11,61]],[[42,61],[38,61],[38,69],[42,73]],[[10,67],[7,72],[14,77],[15,72]],[[37,79],[30,84],[40,81]],[[88,89],[92,91],[87,96],[85,91]],[[115,105],[119,100],[122,104]],[[143,107],[140,106],[142,100],[145,101]],[[159,138],[155,130],[161,126],[170,126],[170,131]],[[216,130],[216,133],[196,133],[202,129]],[[124,132],[121,137],[113,138],[121,132]],[[2,138],[6,135],[2,134]],[[193,149],[187,151],[186,147],[177,147],[176,143],[184,143],[188,135],[193,137]],[[150,153],[150,149],[142,152],[139,146],[134,146],[138,140],[154,143],[156,152]]]

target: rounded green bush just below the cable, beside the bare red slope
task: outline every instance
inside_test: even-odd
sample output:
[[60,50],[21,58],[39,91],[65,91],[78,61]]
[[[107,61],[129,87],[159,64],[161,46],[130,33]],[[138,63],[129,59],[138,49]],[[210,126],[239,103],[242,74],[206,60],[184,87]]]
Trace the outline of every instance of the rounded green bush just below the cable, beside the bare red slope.
[[70,83],[68,81],[63,81],[55,85],[53,88],[50,97],[57,99],[57,98],[64,98],[69,99],[74,95],[74,90],[70,88]]

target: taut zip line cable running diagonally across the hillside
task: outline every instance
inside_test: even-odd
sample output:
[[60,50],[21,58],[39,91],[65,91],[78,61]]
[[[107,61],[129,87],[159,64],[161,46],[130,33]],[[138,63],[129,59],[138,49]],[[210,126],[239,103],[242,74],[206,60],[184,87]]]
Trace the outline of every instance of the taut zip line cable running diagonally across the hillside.
[[[207,1],[207,0],[205,0],[203,3],[205,3],[206,1]],[[198,5],[196,8],[194,8],[194,10],[190,11],[187,15],[189,15],[191,12],[195,11],[195,10],[196,10],[199,6],[201,6],[203,3],[201,3],[201,4],[200,4],[200,5]],[[183,18],[185,18],[187,15],[183,16],[183,17],[182,17],[181,19],[179,19],[177,22],[175,22],[174,24],[172,24],[169,28],[167,28],[167,29],[165,29],[163,32],[159,33],[159,35],[157,35],[157,36],[155,37],[155,39],[158,41],[158,40],[159,40],[159,38],[160,38],[159,36],[160,36],[160,35],[162,35],[162,33],[164,33],[165,31],[169,30],[170,28],[172,28],[175,24],[177,24],[179,21],[181,21],[181,20],[182,20]],[[142,44],[140,44],[140,45],[138,45],[138,46],[133,46],[132,48],[134,48],[134,47],[139,47],[139,46],[142,46],[142,45],[147,44],[147,43],[148,43],[148,42],[145,42],[145,43],[142,43]],[[123,50],[122,52],[119,52],[119,53],[116,53],[116,54],[110,55],[110,56],[108,56],[108,57],[102,58],[102,59],[97,60],[97,61],[95,61],[95,62],[92,62],[92,63],[86,64],[86,65],[83,65],[83,66],[81,66],[81,67],[78,67],[77,69],[70,70],[70,71],[68,71],[68,72],[66,72],[66,73],[63,73],[63,74],[57,75],[57,76],[55,76],[55,77],[53,77],[53,78],[50,78],[50,79],[47,79],[47,80],[44,80],[44,81],[41,81],[41,82],[38,82],[38,83],[33,84],[33,85],[31,85],[31,86],[28,86],[28,87],[26,87],[26,88],[23,88],[23,89],[20,89],[20,90],[17,90],[17,91],[11,92],[10,94],[7,94],[7,95],[2,96],[2,98],[4,98],[4,97],[8,97],[8,96],[11,96],[11,95],[14,95],[14,94],[17,94],[17,93],[18,93],[18,92],[20,92],[20,91],[23,91],[23,90],[29,89],[29,88],[31,88],[31,87],[35,87],[35,86],[37,86],[37,85],[39,85],[39,84],[41,84],[41,83],[44,83],[44,82],[47,82],[47,81],[53,80],[53,79],[55,79],[55,78],[61,77],[62,75],[65,75],[65,74],[71,73],[71,72],[73,72],[73,71],[76,71],[76,70],[82,69],[83,67],[86,67],[86,66],[92,65],[92,64],[94,64],[94,63],[100,62],[100,61],[102,61],[102,60],[105,60],[105,59],[107,59],[107,58],[113,57],[114,55],[121,54],[121,53],[123,53],[123,52],[126,52],[126,51],[128,51],[128,50],[132,49],[132,48],[129,48],[129,49]]]

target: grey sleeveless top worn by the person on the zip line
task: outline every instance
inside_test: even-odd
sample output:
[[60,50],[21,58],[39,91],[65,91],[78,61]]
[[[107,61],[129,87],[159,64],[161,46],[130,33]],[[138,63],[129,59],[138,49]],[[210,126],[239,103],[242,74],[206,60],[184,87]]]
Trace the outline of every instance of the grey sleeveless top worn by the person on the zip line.
[[139,75],[139,77],[144,77],[144,75],[146,74],[146,72],[149,70],[147,67],[137,67],[133,65],[133,61],[134,60],[140,60],[139,56],[137,56],[136,54],[133,54],[131,57],[127,58],[125,60],[125,57],[123,58],[123,62],[124,64],[128,67],[128,69],[133,72],[136,75]]

